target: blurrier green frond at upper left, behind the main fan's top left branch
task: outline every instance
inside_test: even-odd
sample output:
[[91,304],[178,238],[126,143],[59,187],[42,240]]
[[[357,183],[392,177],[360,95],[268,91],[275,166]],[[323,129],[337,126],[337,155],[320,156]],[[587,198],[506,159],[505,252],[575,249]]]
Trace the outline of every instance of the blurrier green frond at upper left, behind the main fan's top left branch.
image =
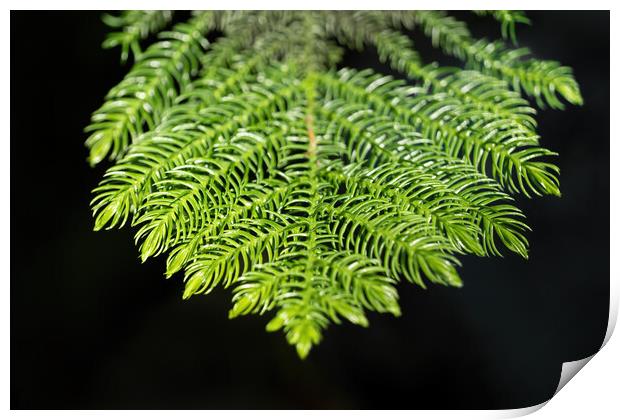
[[191,82],[207,46],[204,35],[213,29],[213,13],[196,15],[187,23],[162,32],[121,83],[112,88],[106,102],[92,116],[86,131],[91,165],[108,154],[121,156],[129,143],[153,128],[161,113]]

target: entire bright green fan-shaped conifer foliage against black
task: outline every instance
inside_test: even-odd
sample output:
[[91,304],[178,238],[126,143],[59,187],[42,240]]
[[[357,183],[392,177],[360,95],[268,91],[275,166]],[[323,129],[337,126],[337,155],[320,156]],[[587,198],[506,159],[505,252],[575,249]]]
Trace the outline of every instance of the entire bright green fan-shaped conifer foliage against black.
[[[521,12],[490,13],[515,37]],[[134,64],[87,127],[95,230],[136,226],[183,298],[230,288],[230,317],[273,313],[300,357],[330,323],[398,316],[396,285],[460,287],[459,255],[527,258],[514,194],[560,195],[535,109],[581,104],[571,70],[409,12],[169,12],[107,17]],[[424,63],[421,28],[466,69]],[[221,34],[209,43],[213,31]],[[140,42],[158,40],[140,49]],[[402,78],[337,69],[375,48]]]

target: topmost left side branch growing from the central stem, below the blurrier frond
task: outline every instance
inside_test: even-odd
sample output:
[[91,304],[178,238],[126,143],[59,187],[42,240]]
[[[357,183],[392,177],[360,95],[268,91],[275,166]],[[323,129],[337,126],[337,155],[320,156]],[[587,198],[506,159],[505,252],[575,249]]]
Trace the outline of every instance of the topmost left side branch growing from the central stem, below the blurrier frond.
[[295,86],[279,84],[273,88],[271,92],[257,89],[224,98],[218,106],[204,109],[184,105],[172,109],[171,113],[182,114],[169,118],[158,130],[129,147],[127,156],[106,172],[103,182],[94,190],[97,196],[91,204],[97,216],[95,230],[123,226],[167,171],[188,159],[208,154],[218,138],[224,139],[245,125],[265,119],[271,111],[284,107],[298,91]]

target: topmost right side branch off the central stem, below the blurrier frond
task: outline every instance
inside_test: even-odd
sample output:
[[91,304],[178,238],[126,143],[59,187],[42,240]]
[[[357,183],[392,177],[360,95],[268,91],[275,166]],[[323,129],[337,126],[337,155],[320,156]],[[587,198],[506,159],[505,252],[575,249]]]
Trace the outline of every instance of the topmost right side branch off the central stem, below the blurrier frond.
[[[510,121],[489,113],[478,113],[473,120],[468,106],[445,95],[409,96],[406,90],[390,84],[389,78],[367,77],[354,72],[341,74],[344,81],[331,79],[327,83],[331,84],[329,93],[346,101],[346,106],[338,103],[331,108],[349,129],[362,130],[362,127],[354,127],[355,115],[363,115],[358,112],[365,113],[364,120],[372,116],[378,122],[383,119],[381,114],[392,115],[398,123],[434,140],[440,150],[463,158],[484,173],[491,172],[510,191],[521,191],[528,196],[530,192],[559,195],[557,168],[533,160],[554,154],[539,147],[537,137],[531,136],[529,131],[512,127]],[[374,116],[377,113],[366,109],[364,103],[367,102],[373,103],[380,114]],[[389,125],[383,128],[391,129]],[[366,136],[372,134],[367,132]],[[490,171],[487,169],[489,160]]]

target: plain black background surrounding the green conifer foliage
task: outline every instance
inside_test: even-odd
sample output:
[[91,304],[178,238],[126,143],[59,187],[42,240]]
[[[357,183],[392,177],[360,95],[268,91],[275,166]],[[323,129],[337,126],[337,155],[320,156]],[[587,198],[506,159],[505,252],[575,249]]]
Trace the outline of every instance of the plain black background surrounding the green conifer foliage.
[[[490,18],[457,13],[477,36]],[[11,13],[11,407],[517,408],[601,345],[609,303],[609,13],[532,12],[518,37],[572,66],[585,106],[541,111],[561,199],[519,198],[530,260],[462,258],[462,289],[399,287],[403,316],[332,326],[300,361],[230,292],[181,300],[133,231],[95,233],[82,129],[127,71],[99,13]],[[426,60],[453,61],[419,32]],[[348,66],[377,65],[371,52]]]

